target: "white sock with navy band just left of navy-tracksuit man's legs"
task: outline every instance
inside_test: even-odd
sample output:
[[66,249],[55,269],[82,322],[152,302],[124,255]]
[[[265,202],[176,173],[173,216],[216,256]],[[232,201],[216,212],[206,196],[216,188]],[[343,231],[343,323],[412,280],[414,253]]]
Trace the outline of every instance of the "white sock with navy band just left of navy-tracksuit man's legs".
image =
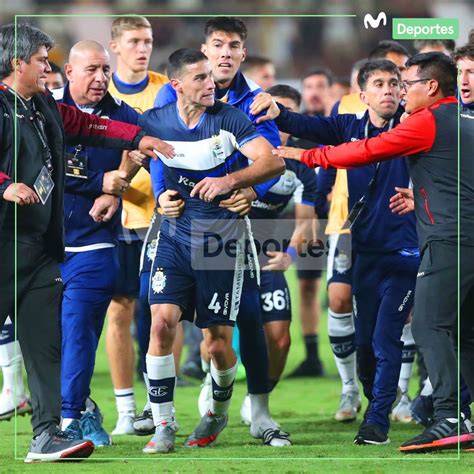
[[328,334],[337,371],[342,381],[342,393],[359,393],[352,313],[335,313],[328,309]]

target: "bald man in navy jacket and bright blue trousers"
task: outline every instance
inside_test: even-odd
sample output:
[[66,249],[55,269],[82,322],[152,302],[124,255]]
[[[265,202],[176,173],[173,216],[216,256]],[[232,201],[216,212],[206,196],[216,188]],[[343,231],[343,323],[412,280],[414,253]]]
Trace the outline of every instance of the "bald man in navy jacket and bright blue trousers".
[[[75,44],[65,66],[68,82],[53,91],[59,102],[82,111],[136,124],[138,113],[107,88],[110,58],[95,41]],[[118,272],[116,241],[121,196],[129,176],[119,170],[122,151],[68,147],[64,196],[66,258],[61,265],[62,429],[96,446],[111,444],[102,415],[90,398],[95,352]],[[107,212],[101,213],[105,209]]]

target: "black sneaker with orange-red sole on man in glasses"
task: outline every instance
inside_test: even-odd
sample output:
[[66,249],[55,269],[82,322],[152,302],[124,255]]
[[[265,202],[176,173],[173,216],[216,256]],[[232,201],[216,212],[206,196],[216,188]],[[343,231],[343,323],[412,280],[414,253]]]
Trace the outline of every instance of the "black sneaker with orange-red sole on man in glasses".
[[423,433],[415,436],[400,446],[404,453],[425,453],[441,449],[457,448],[458,443],[463,447],[472,441],[466,425],[459,421],[448,421],[443,418],[425,429]]

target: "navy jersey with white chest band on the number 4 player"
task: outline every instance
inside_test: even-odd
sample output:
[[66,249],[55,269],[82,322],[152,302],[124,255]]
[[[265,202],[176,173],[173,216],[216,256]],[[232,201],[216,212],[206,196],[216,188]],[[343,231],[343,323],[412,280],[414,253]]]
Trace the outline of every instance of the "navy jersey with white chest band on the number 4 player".
[[139,126],[148,135],[173,145],[174,158],[160,155],[160,160],[151,161],[150,173],[155,182],[163,173],[165,189],[178,191],[186,202],[178,219],[163,217],[160,231],[181,243],[199,245],[199,241],[191,240],[192,232],[204,231],[208,225],[197,220],[222,220],[219,224],[222,238],[235,237],[235,220],[239,216],[219,207],[219,202],[228,196],[218,196],[208,203],[199,197],[191,198],[190,192],[205,177],[225,176],[243,167],[237,151],[259,137],[246,115],[230,105],[216,102],[206,109],[199,123],[189,129],[179,117],[174,102],[145,112],[140,116]]

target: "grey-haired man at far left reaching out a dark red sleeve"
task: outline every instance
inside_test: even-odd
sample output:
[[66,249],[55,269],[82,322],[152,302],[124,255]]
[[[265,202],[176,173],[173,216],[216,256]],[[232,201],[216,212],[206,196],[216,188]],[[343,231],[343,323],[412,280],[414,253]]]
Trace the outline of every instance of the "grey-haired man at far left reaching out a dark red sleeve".
[[27,462],[88,457],[94,449],[57,428],[66,136],[72,144],[172,153],[136,126],[58,106],[45,87],[52,45],[29,25],[0,28],[0,327],[9,314],[17,317],[33,407]]

